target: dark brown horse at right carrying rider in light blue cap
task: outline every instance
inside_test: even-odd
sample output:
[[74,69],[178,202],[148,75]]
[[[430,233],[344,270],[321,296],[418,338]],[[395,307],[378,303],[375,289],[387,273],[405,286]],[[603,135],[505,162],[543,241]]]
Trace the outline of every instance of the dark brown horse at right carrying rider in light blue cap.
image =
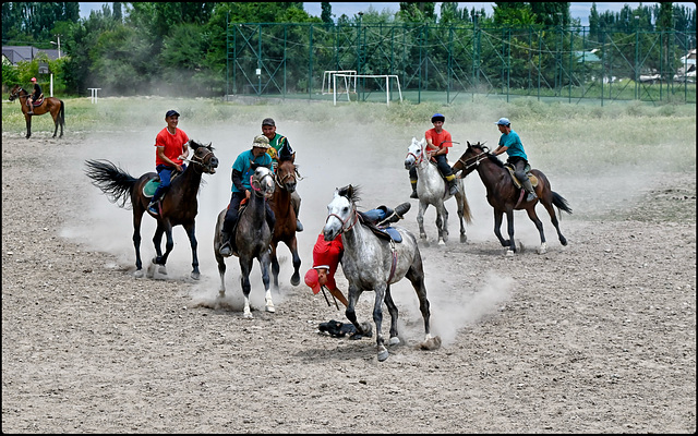
[[[459,175],[460,178],[465,178],[476,169],[478,170],[480,179],[488,191],[488,203],[494,208],[494,234],[496,234],[502,246],[508,247],[506,255],[513,256],[514,253],[516,253],[516,243],[514,242],[514,210],[521,209],[526,210],[528,217],[533,221],[540,233],[541,245],[538,249],[538,253],[543,254],[547,251],[545,234],[543,233],[543,223],[535,214],[535,205],[539,201],[543,207],[545,207],[545,210],[547,210],[550,219],[553,226],[555,226],[555,230],[557,230],[559,243],[567,245],[567,240],[559,231],[559,223],[557,222],[553,206],[556,206],[558,210],[564,210],[567,214],[571,214],[571,208],[563,196],[551,189],[550,181],[545,174],[537,169],[530,171],[531,174],[538,179],[538,184],[533,183],[538,198],[527,202],[525,195],[526,190],[514,185],[512,174],[505,168],[504,162],[489,152],[490,149],[483,144],[477,143],[471,145],[468,142],[468,148],[453,166],[453,169],[454,173],[462,171]],[[502,238],[502,232],[500,231],[503,214],[506,214],[509,234],[508,240]]]

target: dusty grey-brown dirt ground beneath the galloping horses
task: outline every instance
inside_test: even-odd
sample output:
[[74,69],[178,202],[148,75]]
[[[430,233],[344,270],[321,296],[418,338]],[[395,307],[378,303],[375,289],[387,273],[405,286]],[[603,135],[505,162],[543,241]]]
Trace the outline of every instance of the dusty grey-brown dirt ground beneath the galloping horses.
[[[395,140],[390,170],[350,150],[333,157],[353,166],[337,169],[323,164],[323,144],[310,141],[306,128],[279,126],[297,138],[304,177],[301,274],[312,265],[334,187],[361,184],[364,210],[409,201],[405,138]],[[541,168],[574,209],[561,221],[569,244],[559,244],[539,207],[549,252],[535,253],[537,231],[517,213],[524,250],[514,257],[492,232],[482,183],[469,177],[468,242],[458,242],[449,204],[450,241],[421,249],[443,346],[417,349],[421,317],[404,280],[394,287],[402,343],[378,362],[373,338],[318,334],[322,322],[346,320],[344,311],[302,282],[289,284],[285,246],[275,314],[263,311],[255,265],[254,317],[242,317],[232,258],[228,308],[216,308],[215,216],[229,199],[232,160],[246,148],[232,146],[229,132],[189,132],[213,140],[221,160],[200,192],[202,279],[189,278],[181,228],[167,276],[133,277],[131,211],[89,183],[83,162],[106,158],[133,175],[152,171],[157,130],[69,132],[60,141],[3,134],[3,433],[696,432],[695,169],[643,178],[614,196],[609,181],[579,186],[576,177]],[[250,126],[236,137],[255,133]],[[358,177],[360,166],[372,177]],[[399,225],[417,232],[410,202]],[[431,242],[433,214],[425,217]],[[144,262],[154,253],[154,220],[146,221]],[[360,319],[370,319],[372,298],[359,302]]]

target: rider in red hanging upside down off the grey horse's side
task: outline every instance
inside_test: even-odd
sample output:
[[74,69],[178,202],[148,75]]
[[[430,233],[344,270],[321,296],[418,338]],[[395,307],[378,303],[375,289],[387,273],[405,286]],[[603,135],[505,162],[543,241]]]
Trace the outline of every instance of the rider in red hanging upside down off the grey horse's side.
[[[402,219],[410,206],[409,203],[402,203],[393,210],[382,205],[376,209],[361,213],[361,215],[366,221],[382,226]],[[335,271],[337,271],[337,265],[341,261],[344,250],[341,234],[333,241],[325,241],[325,237],[321,231],[313,247],[313,267],[305,272],[305,284],[313,290],[313,293],[320,292],[321,287],[325,286],[329,293],[347,306],[349,302],[337,288],[337,282],[335,281]]]

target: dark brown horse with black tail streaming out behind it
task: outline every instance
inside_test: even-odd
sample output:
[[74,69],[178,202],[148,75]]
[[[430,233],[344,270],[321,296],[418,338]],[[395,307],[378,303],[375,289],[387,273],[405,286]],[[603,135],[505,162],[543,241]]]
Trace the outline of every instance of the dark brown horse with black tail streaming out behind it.
[[[202,174],[215,174],[218,167],[218,158],[214,155],[214,147],[202,145],[195,141],[189,142],[189,147],[194,152],[190,165],[182,173],[172,178],[170,187],[161,197],[160,213],[153,216],[157,220],[157,228],[153,237],[155,252],[157,256],[153,258],[148,268],[148,277],[153,277],[152,272],[155,265],[159,265],[159,271],[167,274],[165,264],[169,256],[174,241],[172,240],[172,227],[182,226],[186,231],[192,247],[192,272],[191,278],[198,280],[201,274],[198,271],[198,257],[196,255],[196,234],[195,218],[198,211],[198,203],[196,194],[202,182]],[[146,172],[139,179],[135,179],[123,169],[117,167],[108,160],[86,160],[86,174],[93,180],[93,184],[99,187],[109,198],[111,203],[118,203],[119,207],[125,207],[130,202],[133,209],[133,246],[135,247],[135,277],[143,277],[141,262],[141,221],[143,214],[146,211],[151,196],[144,194],[144,186],[152,179],[157,177],[156,172]],[[166,251],[163,254],[160,244],[163,233],[167,235]]]

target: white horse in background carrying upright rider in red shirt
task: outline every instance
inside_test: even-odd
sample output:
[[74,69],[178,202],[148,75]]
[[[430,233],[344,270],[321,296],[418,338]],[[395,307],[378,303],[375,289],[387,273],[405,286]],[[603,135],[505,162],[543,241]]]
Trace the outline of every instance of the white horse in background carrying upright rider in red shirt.
[[[448,242],[448,210],[445,202],[452,197],[446,189],[446,182],[441,175],[435,164],[430,162],[431,156],[426,150],[426,140],[417,141],[412,137],[412,144],[407,147],[407,157],[405,158],[405,168],[410,169],[417,167],[417,195],[419,196],[419,213],[417,214],[417,223],[419,225],[419,237],[424,246],[429,246],[426,232],[424,232],[424,211],[429,205],[436,209],[436,230],[438,230],[438,244],[444,245]],[[470,206],[466,197],[462,179],[456,179],[458,193],[454,195],[456,205],[458,206],[458,218],[460,219],[460,242],[468,240],[466,235],[466,227],[464,219],[470,223]]]

